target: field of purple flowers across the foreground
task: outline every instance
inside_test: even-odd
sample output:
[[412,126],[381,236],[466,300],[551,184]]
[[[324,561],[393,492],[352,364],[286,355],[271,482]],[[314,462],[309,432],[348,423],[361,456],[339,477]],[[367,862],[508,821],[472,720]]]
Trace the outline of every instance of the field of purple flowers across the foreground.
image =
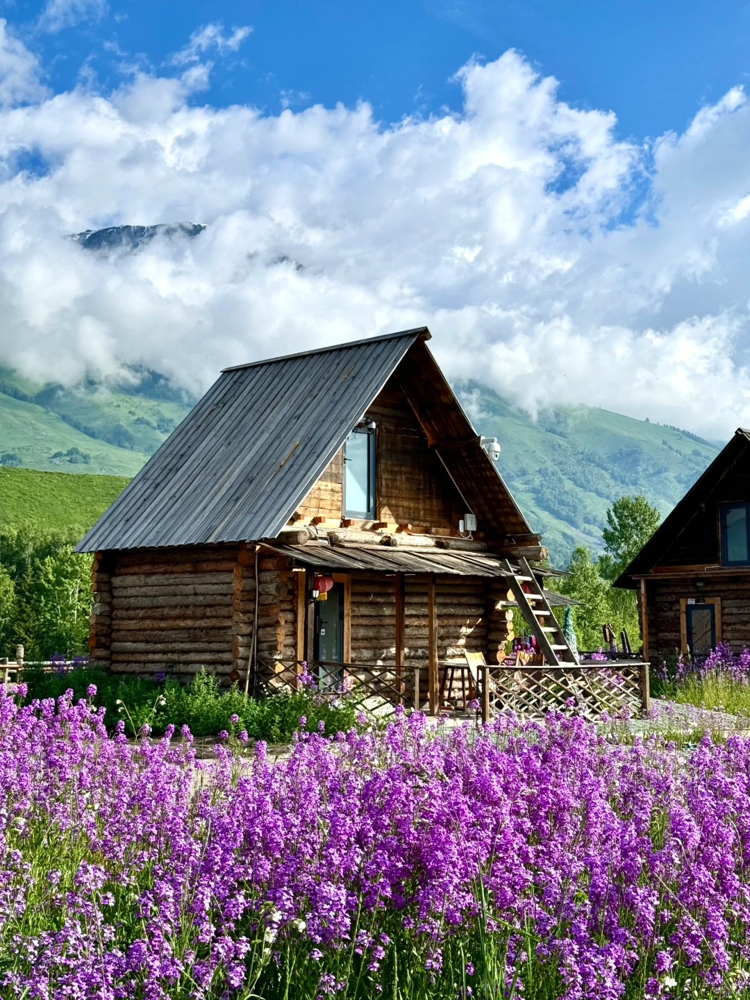
[[4,1000],[750,993],[746,739],[402,713],[190,747],[0,695]]

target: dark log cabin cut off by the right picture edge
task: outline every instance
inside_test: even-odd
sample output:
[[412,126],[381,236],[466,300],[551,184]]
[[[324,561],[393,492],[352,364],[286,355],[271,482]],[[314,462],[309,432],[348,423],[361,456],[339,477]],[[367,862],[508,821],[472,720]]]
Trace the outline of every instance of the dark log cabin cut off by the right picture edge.
[[637,593],[644,659],[750,645],[750,430],[736,431],[615,586]]

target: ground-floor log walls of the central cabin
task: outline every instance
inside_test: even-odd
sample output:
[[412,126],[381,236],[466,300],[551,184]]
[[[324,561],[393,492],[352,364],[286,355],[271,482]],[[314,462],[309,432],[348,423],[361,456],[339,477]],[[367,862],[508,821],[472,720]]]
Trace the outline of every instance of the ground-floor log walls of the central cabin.
[[[223,683],[242,684],[253,644],[255,573],[255,551],[245,546],[97,554],[92,658],[115,671],[183,678],[203,666]],[[275,661],[298,658],[298,576],[285,556],[262,549],[257,574],[259,676],[268,679],[277,672]],[[494,654],[495,646],[488,648],[491,600],[484,579],[436,578],[440,659],[464,650]],[[426,579],[405,577],[404,604],[405,664],[426,668]],[[352,574],[350,636],[353,663],[394,663],[393,575]]]

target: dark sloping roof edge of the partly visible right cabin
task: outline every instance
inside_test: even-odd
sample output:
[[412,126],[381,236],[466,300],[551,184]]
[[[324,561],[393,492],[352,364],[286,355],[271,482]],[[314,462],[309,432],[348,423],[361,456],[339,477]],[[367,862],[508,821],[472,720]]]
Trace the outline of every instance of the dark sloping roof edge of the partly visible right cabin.
[[636,586],[633,579],[635,575],[644,576],[651,572],[672,542],[685,530],[700,504],[706,501],[719,480],[729,472],[738,459],[747,454],[748,444],[750,444],[750,430],[738,427],[731,440],[664,518],[627,569],[618,576],[614,583],[615,587],[633,589]]

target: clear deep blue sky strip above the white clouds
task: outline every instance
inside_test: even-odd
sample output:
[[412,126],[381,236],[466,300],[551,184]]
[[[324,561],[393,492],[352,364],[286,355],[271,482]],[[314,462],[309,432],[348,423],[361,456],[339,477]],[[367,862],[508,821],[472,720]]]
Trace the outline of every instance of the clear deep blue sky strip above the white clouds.
[[[49,6],[49,5],[48,5]],[[103,86],[123,62],[158,68],[209,22],[252,37],[200,95],[214,106],[277,111],[369,101],[384,121],[460,108],[451,82],[473,54],[518,48],[580,107],[615,110],[618,132],[643,139],[682,130],[698,108],[750,70],[750,4],[727,0],[58,0],[67,26],[39,31],[45,4],[11,0],[5,16],[43,56],[55,90],[81,66]],[[74,22],[74,23],[70,23]]]

